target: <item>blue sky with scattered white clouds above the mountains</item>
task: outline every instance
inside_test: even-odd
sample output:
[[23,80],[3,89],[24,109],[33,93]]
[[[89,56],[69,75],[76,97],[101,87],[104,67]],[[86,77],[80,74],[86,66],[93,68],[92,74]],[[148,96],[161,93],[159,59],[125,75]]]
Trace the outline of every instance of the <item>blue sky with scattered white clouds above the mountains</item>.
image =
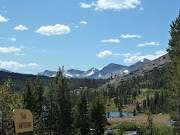
[[0,69],[37,74],[166,54],[179,0],[0,0]]

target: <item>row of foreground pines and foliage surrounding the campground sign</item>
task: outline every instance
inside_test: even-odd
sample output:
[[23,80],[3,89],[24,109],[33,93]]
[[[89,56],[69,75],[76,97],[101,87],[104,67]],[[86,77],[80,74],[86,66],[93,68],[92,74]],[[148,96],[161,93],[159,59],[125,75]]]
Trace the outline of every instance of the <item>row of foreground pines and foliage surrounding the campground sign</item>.
[[42,77],[37,76],[35,81],[30,78],[26,80],[22,93],[13,90],[10,78],[0,89],[0,135],[14,134],[12,111],[18,108],[31,110],[34,134],[37,135],[104,133],[106,110],[103,94],[100,90],[95,90],[95,97],[88,102],[88,93],[81,90],[76,94],[73,105],[73,92],[63,75],[63,69],[57,72],[48,87],[44,87]]

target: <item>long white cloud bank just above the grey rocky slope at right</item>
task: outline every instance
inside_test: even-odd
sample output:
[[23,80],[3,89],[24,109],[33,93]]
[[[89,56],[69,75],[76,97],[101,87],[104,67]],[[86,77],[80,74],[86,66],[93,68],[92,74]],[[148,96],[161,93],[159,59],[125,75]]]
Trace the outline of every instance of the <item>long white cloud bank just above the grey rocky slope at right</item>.
[[156,58],[159,58],[162,55],[165,55],[166,53],[167,53],[166,51],[162,51],[162,50],[155,52],[153,55],[148,54],[148,55],[143,56],[143,55],[140,55],[141,53],[136,53],[136,54],[131,55],[128,58],[125,58],[124,63],[135,63],[135,62],[138,62],[138,61],[143,60],[145,58],[149,59],[149,60],[154,60]]

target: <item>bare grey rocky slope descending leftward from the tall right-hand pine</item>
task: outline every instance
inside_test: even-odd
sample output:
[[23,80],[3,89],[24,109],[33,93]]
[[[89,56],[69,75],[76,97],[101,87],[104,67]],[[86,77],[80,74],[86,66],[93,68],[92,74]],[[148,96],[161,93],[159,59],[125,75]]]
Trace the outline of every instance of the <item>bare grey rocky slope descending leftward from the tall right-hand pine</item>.
[[164,56],[161,56],[151,62],[148,62],[148,63],[132,70],[131,72],[123,75],[120,78],[111,80],[110,82],[108,82],[108,84],[120,84],[121,82],[124,82],[127,79],[130,79],[132,77],[144,75],[145,73],[151,72],[155,69],[161,69],[161,68],[165,67],[166,64],[169,62],[171,62],[171,60],[169,58],[169,55],[166,54]]

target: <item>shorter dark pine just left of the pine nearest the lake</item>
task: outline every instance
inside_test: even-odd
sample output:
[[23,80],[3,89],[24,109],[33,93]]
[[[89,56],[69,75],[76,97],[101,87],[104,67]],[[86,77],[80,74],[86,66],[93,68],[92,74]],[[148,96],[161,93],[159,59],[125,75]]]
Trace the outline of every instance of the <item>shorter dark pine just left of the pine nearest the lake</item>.
[[75,107],[75,126],[80,129],[82,135],[89,132],[89,114],[87,98],[84,91],[81,91]]

